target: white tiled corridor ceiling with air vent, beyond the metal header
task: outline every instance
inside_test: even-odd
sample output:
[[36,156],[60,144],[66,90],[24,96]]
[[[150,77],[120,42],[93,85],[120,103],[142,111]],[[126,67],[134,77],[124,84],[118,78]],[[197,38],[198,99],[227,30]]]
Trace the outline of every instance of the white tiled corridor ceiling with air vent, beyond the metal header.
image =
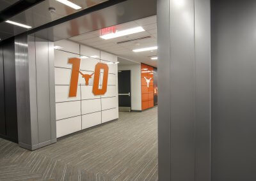
[[[116,29],[121,31],[138,26],[142,26],[145,31],[141,33],[130,34],[128,36],[122,36],[119,38],[113,38],[110,40],[104,40],[99,37],[100,31],[98,30],[86,34],[81,34],[79,36],[74,36],[69,38],[69,40],[110,52],[112,54],[123,57],[124,59],[129,59],[139,63],[143,62],[145,64],[157,67],[157,61],[152,61],[150,59],[150,57],[157,55],[157,50],[153,50],[152,52],[132,52],[132,50],[137,48],[157,46],[156,16],[116,25]],[[134,38],[141,38],[145,36],[151,36],[151,38],[117,44],[119,41],[132,40]]]

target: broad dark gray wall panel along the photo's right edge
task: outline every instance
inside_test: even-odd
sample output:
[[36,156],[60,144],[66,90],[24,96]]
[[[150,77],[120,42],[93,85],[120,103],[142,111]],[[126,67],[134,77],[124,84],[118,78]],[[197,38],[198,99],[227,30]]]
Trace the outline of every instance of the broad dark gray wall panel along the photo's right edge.
[[212,181],[256,180],[256,1],[212,1]]

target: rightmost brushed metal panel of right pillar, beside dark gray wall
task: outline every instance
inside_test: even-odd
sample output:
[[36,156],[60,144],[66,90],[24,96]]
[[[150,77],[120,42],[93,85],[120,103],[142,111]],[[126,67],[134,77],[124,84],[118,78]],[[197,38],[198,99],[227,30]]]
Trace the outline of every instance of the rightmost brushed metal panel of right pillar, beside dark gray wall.
[[195,0],[195,180],[211,180],[210,0]]

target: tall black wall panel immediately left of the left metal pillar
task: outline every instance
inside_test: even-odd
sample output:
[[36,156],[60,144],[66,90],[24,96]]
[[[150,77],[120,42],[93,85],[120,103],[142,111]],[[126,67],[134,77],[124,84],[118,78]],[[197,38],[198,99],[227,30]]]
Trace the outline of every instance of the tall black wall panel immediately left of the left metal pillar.
[[6,136],[18,141],[14,38],[4,41],[3,57]]

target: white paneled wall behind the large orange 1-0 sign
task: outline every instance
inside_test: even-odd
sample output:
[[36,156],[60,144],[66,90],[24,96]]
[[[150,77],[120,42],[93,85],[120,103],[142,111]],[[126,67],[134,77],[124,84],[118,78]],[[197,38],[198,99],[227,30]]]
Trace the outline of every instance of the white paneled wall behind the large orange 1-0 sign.
[[68,64],[68,58],[88,56],[86,59],[81,59],[80,69],[83,73],[93,73],[95,64],[98,62],[116,62],[117,57],[67,40],[56,41],[54,46],[62,47],[60,50],[54,50],[57,138],[109,120],[118,119],[116,64],[108,64],[109,75],[106,94],[94,96],[92,93],[93,77],[90,79],[89,85],[86,86],[84,78],[79,75],[77,97],[68,98],[72,70],[72,64]]

